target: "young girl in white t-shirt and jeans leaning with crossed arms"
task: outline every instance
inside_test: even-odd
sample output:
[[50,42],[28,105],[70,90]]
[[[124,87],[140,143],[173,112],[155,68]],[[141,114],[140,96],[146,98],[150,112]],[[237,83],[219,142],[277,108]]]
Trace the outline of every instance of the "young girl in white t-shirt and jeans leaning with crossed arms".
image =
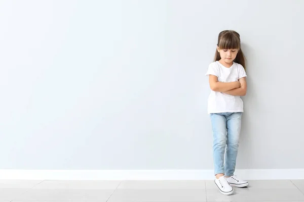
[[234,191],[232,186],[249,184],[234,175],[243,114],[240,96],[247,91],[245,58],[236,31],[219,33],[214,62],[206,75],[211,88],[208,114],[213,130],[214,182],[222,194],[230,195]]

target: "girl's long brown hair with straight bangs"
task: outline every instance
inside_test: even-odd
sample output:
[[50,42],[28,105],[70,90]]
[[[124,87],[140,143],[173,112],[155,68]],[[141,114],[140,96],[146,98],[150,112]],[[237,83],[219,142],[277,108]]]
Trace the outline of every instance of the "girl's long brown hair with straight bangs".
[[[241,39],[240,39],[240,34],[238,32],[233,30],[221,31],[218,34],[217,46],[219,47],[219,49],[238,49],[239,52],[234,62],[241,64],[246,70],[245,56],[241,49]],[[220,59],[221,59],[220,55],[216,48],[214,62],[219,61]]]

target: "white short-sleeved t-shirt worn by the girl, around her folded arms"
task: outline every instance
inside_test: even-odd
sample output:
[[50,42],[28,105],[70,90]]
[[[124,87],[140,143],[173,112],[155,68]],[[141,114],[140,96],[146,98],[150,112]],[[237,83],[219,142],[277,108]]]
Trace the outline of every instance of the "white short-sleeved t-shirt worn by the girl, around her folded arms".
[[[247,77],[241,64],[233,63],[230,68],[224,67],[218,61],[209,65],[206,76],[215,75],[220,82],[233,82]],[[243,100],[240,96],[230,95],[211,90],[208,98],[208,114],[223,112],[244,112]]]

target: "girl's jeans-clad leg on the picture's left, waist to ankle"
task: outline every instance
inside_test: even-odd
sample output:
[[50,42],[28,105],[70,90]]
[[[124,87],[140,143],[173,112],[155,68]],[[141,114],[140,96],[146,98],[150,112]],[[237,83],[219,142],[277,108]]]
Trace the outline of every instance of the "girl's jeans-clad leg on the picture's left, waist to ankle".
[[221,114],[210,114],[213,130],[214,174],[224,175],[224,153],[226,147],[226,118]]

